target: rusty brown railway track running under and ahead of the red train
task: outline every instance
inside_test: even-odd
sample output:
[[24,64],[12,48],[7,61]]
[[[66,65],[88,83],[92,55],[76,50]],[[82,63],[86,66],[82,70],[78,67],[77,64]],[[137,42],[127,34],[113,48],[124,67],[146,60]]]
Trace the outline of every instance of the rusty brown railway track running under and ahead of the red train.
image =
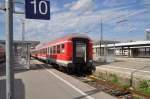
[[[44,66],[48,66],[48,64],[44,64]],[[58,69],[65,74],[67,73],[63,69]],[[90,86],[95,87],[97,90],[104,91],[112,96],[117,97],[118,99],[150,99],[150,96],[142,94],[140,92],[123,88],[117,84],[112,84],[108,81],[99,80],[94,76],[91,75],[84,75],[84,74],[69,74],[70,76],[89,84]],[[140,97],[140,98],[137,98]]]

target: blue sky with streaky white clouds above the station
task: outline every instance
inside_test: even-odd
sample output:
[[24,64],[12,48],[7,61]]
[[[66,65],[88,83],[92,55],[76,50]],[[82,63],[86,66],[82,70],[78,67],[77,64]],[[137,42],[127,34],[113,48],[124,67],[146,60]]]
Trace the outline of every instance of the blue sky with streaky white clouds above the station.
[[[24,0],[16,0],[24,3]],[[50,0],[51,19],[31,20],[14,14],[14,39],[21,39],[25,20],[25,39],[48,42],[66,34],[83,33],[93,40],[145,40],[150,29],[150,0]],[[0,7],[4,0],[0,0]],[[15,3],[23,12],[24,4]],[[5,39],[5,13],[0,11],[0,39]]]

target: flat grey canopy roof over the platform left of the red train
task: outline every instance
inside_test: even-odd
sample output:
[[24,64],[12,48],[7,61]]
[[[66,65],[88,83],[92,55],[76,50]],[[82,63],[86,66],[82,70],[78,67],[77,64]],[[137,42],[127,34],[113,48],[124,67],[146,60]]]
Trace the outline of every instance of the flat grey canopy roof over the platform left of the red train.
[[[5,40],[0,40],[0,44],[5,44]],[[35,47],[40,44],[40,41],[20,41],[14,40],[14,45],[31,44],[31,47]]]

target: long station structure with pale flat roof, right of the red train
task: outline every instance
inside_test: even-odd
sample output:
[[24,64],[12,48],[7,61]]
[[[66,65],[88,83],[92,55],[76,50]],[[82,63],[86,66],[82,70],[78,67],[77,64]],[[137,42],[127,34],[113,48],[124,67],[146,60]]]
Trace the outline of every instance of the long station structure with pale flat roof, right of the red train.
[[[101,50],[101,52],[99,51]],[[150,58],[150,41],[132,41],[124,43],[94,43],[93,51],[95,56],[120,56],[131,58]]]

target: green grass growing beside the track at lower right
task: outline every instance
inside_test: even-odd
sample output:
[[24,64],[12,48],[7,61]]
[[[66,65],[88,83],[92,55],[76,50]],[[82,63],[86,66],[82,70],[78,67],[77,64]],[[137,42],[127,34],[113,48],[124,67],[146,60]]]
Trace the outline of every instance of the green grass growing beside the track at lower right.
[[[95,74],[98,80],[103,80],[106,82],[110,82],[114,85],[119,85],[123,89],[129,89],[131,87],[130,83],[125,83],[120,79],[120,77],[115,73],[108,73],[108,72],[99,72]],[[130,79],[129,79],[130,80]],[[135,91],[143,93],[147,96],[150,96],[150,80],[141,80],[138,86],[135,88]],[[134,96],[133,99],[145,99],[142,96]]]

